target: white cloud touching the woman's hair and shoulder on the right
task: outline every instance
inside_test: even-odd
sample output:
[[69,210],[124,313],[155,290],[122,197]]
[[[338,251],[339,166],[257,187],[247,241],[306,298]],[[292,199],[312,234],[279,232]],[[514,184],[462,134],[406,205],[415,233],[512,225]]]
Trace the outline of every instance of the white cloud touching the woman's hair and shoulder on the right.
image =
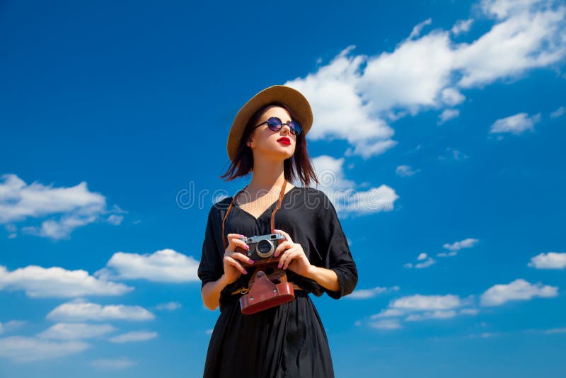
[[312,161],[320,181],[318,189],[333,202],[340,216],[393,210],[393,202],[399,198],[395,190],[384,184],[369,190],[356,190],[355,183],[345,178],[344,158],[322,155]]

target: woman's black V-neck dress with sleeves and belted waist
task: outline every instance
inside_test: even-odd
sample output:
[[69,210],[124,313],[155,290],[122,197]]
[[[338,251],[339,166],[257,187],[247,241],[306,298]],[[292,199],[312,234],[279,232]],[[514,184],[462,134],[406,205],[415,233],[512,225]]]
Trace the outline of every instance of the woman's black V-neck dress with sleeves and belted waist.
[[[202,244],[198,275],[202,286],[218,280],[223,271],[222,219],[232,197],[212,206]],[[274,202],[256,219],[234,204],[225,222],[225,236],[270,234]],[[314,280],[287,270],[289,282],[304,290],[295,299],[256,314],[243,315],[238,302],[255,269],[248,268],[236,282],[220,294],[220,316],[216,321],[204,364],[204,377],[334,377],[328,339],[318,312],[308,293],[326,292],[338,299],[350,294],[357,283],[357,269],[335,207],[327,195],[315,188],[295,186],[284,194],[275,213],[275,229],[286,231],[303,247],[312,265],[334,270],[340,290],[333,292]],[[227,240],[227,239],[226,239]]]

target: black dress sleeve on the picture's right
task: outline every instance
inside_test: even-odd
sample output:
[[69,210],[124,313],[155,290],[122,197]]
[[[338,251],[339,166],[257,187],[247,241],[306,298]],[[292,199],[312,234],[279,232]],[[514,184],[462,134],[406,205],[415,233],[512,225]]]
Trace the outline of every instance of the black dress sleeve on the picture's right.
[[337,292],[326,289],[325,292],[330,297],[339,299],[354,291],[358,282],[358,272],[334,205],[324,193],[322,202],[317,220],[323,268],[336,273],[340,286]]

